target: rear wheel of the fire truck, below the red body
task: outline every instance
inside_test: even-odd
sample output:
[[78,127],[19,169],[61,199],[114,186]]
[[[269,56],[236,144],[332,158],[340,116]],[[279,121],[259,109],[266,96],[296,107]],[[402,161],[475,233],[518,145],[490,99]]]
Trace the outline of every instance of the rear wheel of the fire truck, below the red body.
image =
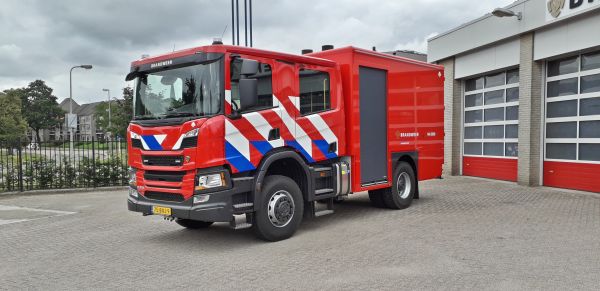
[[[400,178],[402,176],[402,178]],[[404,182],[404,184],[402,184]],[[405,187],[403,187],[405,185]],[[417,189],[415,171],[407,162],[399,162],[394,169],[394,182],[391,188],[382,189],[385,206],[390,209],[404,209],[412,204]]]

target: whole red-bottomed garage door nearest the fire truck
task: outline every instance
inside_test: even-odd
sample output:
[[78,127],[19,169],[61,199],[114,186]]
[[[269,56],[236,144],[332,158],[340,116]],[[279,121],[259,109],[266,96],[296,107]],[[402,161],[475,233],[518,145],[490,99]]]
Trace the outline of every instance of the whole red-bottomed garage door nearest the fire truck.
[[516,181],[519,70],[464,82],[463,175]]

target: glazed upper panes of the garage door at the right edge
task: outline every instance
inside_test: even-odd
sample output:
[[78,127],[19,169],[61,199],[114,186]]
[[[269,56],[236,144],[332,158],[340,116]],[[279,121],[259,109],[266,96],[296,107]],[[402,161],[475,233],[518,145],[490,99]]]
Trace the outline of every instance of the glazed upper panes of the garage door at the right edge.
[[545,159],[600,161],[600,52],[547,68]]

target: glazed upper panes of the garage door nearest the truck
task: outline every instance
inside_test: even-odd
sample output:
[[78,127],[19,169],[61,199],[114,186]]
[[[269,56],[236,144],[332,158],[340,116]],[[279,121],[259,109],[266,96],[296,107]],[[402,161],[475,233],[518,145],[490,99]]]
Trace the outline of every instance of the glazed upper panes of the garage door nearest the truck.
[[519,69],[465,80],[465,156],[516,158]]

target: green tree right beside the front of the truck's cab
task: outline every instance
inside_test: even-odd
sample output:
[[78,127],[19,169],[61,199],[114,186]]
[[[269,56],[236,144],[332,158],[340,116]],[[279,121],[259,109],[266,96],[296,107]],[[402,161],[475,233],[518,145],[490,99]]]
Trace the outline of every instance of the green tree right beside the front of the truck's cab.
[[96,107],[96,124],[111,132],[113,136],[124,138],[133,117],[133,89],[123,88],[123,99],[112,101],[110,109],[112,126],[108,126],[108,102],[102,102]]

